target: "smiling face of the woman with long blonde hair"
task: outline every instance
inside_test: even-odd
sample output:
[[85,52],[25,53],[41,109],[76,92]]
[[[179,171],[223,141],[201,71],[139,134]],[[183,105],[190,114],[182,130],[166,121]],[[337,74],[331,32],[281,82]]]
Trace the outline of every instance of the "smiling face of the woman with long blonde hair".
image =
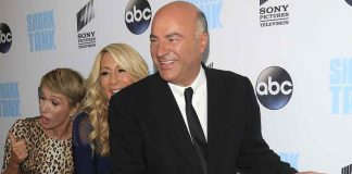
[[100,85],[108,99],[133,83],[129,74],[120,67],[111,54],[104,53],[100,62]]

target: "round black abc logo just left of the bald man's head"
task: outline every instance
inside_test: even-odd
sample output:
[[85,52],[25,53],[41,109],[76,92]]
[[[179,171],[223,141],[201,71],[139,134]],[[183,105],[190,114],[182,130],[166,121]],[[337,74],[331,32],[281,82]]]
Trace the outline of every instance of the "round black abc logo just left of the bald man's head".
[[152,11],[147,0],[130,0],[125,10],[127,28],[136,35],[142,34],[149,27]]

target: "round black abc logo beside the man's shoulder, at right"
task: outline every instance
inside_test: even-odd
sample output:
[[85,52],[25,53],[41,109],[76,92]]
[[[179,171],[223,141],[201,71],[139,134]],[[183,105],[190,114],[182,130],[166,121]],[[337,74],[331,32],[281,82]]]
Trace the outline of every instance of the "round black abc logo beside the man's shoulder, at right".
[[293,84],[282,67],[271,66],[261,73],[255,89],[257,99],[265,108],[278,110],[291,99]]

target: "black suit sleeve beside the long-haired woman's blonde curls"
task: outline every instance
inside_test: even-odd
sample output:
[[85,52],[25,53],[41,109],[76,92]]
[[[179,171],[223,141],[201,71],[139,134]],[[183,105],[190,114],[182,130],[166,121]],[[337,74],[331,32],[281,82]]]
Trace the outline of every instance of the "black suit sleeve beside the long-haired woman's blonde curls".
[[[116,94],[109,104],[110,159],[113,174],[144,174],[142,133],[130,104]],[[117,100],[118,98],[118,100]],[[130,107],[127,108],[126,105]],[[136,110],[136,109],[135,109]]]

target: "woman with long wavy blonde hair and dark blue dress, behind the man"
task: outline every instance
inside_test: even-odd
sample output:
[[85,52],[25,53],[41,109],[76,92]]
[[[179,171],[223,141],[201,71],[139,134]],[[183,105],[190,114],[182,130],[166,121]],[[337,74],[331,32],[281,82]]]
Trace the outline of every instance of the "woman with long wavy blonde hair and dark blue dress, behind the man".
[[111,44],[97,55],[87,79],[83,111],[74,121],[75,173],[109,174],[108,103],[112,95],[148,75],[140,54],[126,44]]

